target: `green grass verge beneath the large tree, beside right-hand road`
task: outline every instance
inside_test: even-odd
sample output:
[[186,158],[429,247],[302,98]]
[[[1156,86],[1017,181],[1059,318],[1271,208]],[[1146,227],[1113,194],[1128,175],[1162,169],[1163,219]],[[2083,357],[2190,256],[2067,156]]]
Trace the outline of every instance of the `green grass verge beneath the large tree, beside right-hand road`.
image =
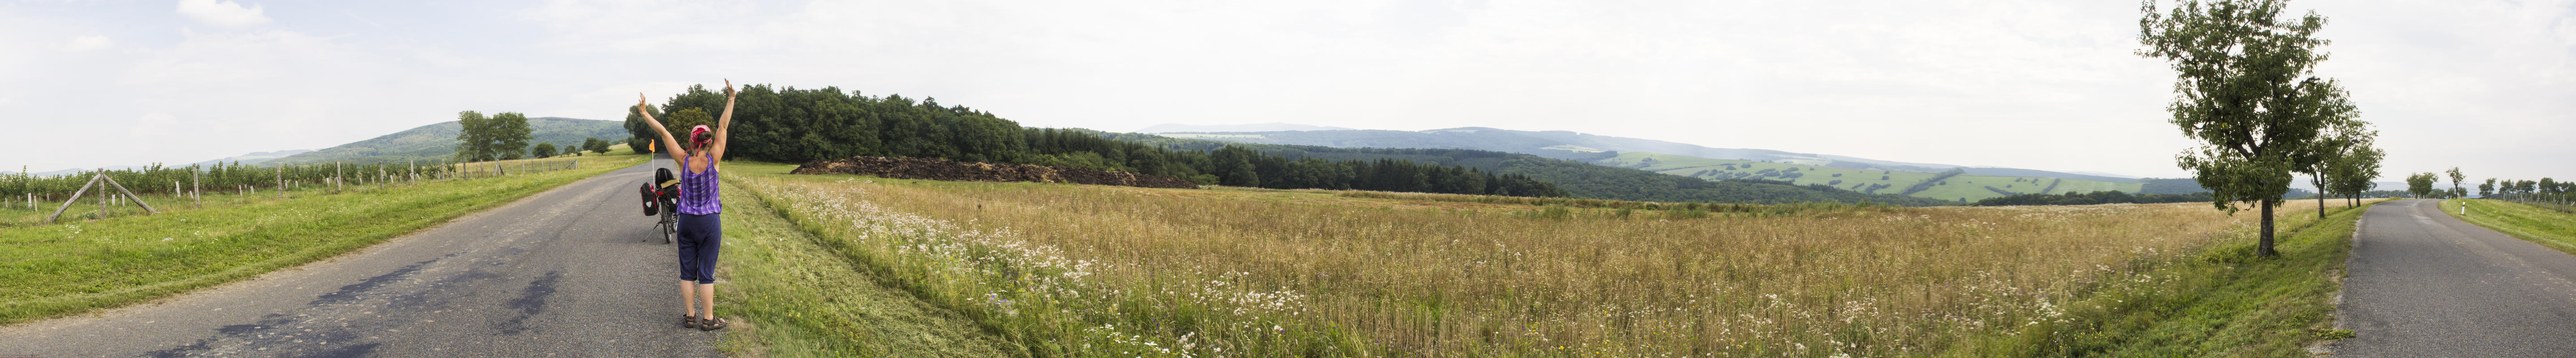
[[2069,304],[2074,319],[2025,330],[1953,355],[2308,355],[2324,340],[2352,337],[2334,327],[2352,232],[2370,201],[2331,209],[2326,219],[2282,211],[2277,258],[2254,258],[2254,232],[2239,229],[2197,258],[2166,263],[2154,286],[2125,286]]

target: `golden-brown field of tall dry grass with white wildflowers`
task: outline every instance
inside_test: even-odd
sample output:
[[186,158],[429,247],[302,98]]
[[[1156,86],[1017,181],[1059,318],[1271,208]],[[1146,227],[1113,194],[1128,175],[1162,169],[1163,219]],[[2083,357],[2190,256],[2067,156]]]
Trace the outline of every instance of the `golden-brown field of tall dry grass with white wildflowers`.
[[[2105,291],[2190,283],[2159,268],[2210,263],[2213,245],[2254,224],[2208,203],[1710,216],[845,175],[739,183],[832,250],[1038,355],[2027,355],[2063,343],[2014,337],[2099,325],[2079,319],[2123,309]],[[2303,209],[2313,203],[2282,211]]]

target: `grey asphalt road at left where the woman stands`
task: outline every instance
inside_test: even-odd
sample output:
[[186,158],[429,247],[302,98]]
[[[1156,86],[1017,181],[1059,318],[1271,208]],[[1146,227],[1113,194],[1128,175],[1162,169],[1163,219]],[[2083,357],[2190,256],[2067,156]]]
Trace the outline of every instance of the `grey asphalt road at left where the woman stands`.
[[[657,160],[665,162],[667,160]],[[0,355],[721,355],[623,167],[325,263],[0,327]]]

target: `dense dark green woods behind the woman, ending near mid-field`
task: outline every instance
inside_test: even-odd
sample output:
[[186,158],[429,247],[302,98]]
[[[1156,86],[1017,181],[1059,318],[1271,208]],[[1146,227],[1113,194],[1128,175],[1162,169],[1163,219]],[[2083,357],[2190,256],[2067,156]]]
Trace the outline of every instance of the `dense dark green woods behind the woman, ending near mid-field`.
[[[711,124],[724,111],[724,93],[693,85],[654,111],[665,131]],[[667,113],[667,116],[665,116]],[[639,152],[641,139],[657,139],[652,124],[629,113],[626,129]],[[1167,149],[1139,142],[1103,139],[1095,131],[1023,129],[1015,121],[966,106],[940,106],[938,98],[871,98],[840,88],[799,90],[744,85],[734,103],[729,157],[768,162],[809,162],[829,157],[940,157],[958,162],[1025,162],[1095,170],[1172,175],[1211,185],[1255,188],[1358,188],[1479,196],[1566,196],[1566,191],[1525,175],[1497,175],[1458,165],[1412,160],[1291,160],[1244,147]]]

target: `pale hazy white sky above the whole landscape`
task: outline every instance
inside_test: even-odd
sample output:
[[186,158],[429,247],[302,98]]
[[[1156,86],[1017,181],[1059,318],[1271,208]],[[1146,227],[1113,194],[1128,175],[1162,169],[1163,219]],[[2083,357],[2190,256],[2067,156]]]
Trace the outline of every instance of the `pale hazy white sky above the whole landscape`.
[[[2568,0],[2306,0],[2388,178],[2576,178]],[[2130,0],[0,3],[8,170],[322,149],[456,111],[837,85],[1025,126],[1566,129],[2184,175]]]

